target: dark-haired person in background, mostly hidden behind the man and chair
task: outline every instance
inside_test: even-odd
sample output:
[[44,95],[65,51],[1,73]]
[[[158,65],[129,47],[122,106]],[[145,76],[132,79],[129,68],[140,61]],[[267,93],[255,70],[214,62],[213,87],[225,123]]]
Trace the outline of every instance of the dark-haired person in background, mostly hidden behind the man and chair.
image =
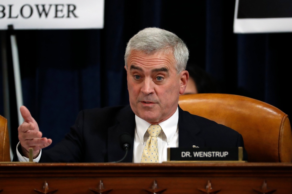
[[204,69],[195,64],[187,64],[189,80],[183,94],[220,93],[216,82]]

